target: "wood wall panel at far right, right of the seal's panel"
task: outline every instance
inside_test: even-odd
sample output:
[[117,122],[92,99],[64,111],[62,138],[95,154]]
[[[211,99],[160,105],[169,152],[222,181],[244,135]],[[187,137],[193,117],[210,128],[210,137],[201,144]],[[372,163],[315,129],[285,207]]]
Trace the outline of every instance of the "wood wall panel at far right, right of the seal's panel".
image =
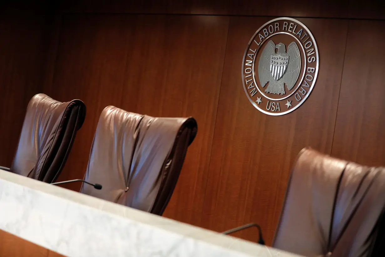
[[384,21],[349,22],[332,155],[385,165]]

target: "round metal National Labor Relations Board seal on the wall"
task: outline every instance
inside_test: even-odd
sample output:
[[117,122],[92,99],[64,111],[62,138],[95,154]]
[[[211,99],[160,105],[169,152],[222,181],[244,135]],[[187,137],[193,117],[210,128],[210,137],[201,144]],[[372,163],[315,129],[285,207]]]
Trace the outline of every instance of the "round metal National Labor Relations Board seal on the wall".
[[318,65],[317,44],[305,25],[293,18],[270,20],[255,32],[244,52],[244,91],[263,113],[290,113],[313,90]]

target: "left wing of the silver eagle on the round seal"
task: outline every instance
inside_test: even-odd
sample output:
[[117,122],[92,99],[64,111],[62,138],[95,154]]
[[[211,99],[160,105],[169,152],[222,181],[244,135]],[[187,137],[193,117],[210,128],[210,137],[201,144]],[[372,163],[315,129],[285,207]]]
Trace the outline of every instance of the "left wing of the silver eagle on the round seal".
[[269,82],[273,77],[271,77],[271,55],[275,54],[275,44],[270,40],[266,47],[263,49],[261,57],[258,64],[258,77],[261,86],[266,86],[266,83]]

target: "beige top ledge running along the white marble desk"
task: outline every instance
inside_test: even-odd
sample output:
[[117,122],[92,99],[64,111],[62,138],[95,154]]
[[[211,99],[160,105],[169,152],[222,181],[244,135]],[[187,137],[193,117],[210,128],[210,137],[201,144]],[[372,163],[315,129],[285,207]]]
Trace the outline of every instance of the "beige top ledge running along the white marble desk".
[[[95,212],[105,213],[113,218],[129,219],[131,221],[140,223],[143,226],[162,230],[165,234],[172,233],[179,235],[179,237],[198,240],[204,245],[209,244],[211,247],[215,246],[224,248],[234,253],[237,252],[240,255],[262,256],[254,254],[258,254],[261,251],[267,253],[270,251],[269,249],[271,249],[273,252],[276,252],[276,249],[272,249],[270,247],[261,246],[243,239],[223,235],[218,232],[195,227],[193,225],[178,222],[176,220],[171,220],[169,218],[161,217],[151,213],[142,212],[140,210],[101,200],[89,195],[84,195],[79,192],[68,190],[66,188],[61,188],[59,186],[50,185],[41,181],[32,180],[30,178],[13,174],[8,171],[0,170],[0,179],[39,191],[44,195],[48,195],[49,197],[58,197],[62,200],[69,201],[72,204],[76,204],[79,208],[90,208]],[[52,250],[56,251],[55,249]],[[285,253],[285,256],[294,257],[298,255]]]

